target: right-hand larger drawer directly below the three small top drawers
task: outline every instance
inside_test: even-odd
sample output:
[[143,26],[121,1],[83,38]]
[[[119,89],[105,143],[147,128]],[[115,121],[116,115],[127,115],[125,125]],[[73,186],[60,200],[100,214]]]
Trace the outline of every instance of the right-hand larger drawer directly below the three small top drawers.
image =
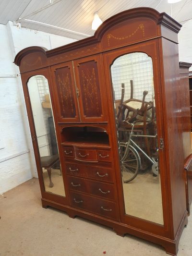
[[87,177],[98,181],[113,182],[112,170],[96,166],[86,166]]

